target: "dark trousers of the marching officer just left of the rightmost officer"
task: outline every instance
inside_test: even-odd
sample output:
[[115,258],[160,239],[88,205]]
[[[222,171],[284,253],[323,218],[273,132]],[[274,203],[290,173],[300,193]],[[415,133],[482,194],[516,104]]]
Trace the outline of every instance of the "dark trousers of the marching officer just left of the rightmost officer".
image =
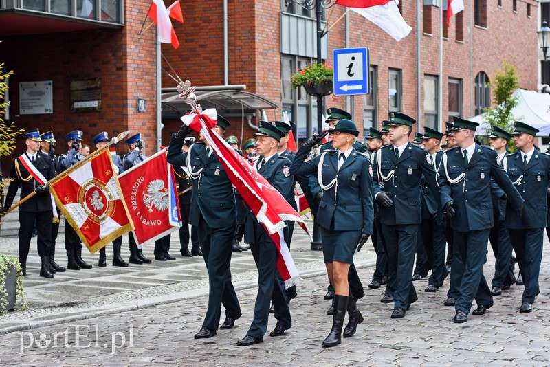
[[494,277],[492,287],[504,287],[516,281],[514,267],[511,265],[511,241],[510,234],[505,221],[498,221],[498,224],[489,232],[489,242],[494,253]]

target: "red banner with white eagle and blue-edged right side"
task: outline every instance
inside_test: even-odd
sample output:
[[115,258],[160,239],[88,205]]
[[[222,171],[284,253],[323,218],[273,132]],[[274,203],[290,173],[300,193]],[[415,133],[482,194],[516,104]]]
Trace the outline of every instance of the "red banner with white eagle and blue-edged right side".
[[166,161],[165,149],[124,171],[118,180],[135,224],[133,236],[138,246],[181,227],[174,171]]

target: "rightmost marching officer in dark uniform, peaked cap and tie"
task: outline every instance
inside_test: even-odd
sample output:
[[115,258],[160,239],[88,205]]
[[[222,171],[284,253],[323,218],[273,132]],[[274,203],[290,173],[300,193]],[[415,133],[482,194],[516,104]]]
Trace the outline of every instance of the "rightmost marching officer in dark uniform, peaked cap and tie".
[[525,290],[520,307],[521,313],[532,311],[533,302],[539,293],[538,275],[542,260],[544,227],[547,225],[547,191],[550,187],[550,156],[539,153],[533,146],[538,129],[524,122],[514,122],[516,153],[507,155],[503,167],[518,189],[525,205],[523,215],[514,213],[514,202],[507,197],[506,226]]

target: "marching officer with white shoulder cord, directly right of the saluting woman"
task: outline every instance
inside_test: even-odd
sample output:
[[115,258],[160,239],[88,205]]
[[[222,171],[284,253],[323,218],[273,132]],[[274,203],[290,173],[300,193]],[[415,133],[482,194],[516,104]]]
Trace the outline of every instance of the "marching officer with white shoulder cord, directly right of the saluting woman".
[[434,197],[439,197],[439,193],[428,153],[408,140],[416,120],[399,112],[389,115],[389,137],[393,144],[380,149],[373,162],[373,191],[380,203],[380,223],[386,241],[390,270],[388,288],[395,289],[391,318],[402,318],[410,304],[418,300],[412,285],[412,266],[421,223],[421,178],[434,192]]

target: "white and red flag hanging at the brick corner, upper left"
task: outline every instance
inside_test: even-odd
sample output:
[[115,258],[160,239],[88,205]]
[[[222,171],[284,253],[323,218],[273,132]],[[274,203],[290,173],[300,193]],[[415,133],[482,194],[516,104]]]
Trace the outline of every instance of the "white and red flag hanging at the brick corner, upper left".
[[181,14],[181,6],[179,0],[175,1],[168,9],[164,5],[164,0],[153,0],[151,8],[149,8],[148,16],[153,19],[153,22],[157,25],[157,32],[160,43],[171,43],[172,46],[177,49],[179,47],[179,41],[177,40],[174,26],[170,21],[170,16],[181,23],[184,23],[184,17]]

